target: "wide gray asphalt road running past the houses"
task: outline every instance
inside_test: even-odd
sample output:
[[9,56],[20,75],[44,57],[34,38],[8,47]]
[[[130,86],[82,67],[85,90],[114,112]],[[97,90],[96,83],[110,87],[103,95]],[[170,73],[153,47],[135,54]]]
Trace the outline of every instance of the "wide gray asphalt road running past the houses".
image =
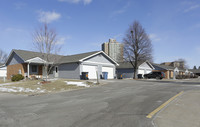
[[195,82],[109,80],[50,95],[0,94],[0,127],[153,127],[146,115]]

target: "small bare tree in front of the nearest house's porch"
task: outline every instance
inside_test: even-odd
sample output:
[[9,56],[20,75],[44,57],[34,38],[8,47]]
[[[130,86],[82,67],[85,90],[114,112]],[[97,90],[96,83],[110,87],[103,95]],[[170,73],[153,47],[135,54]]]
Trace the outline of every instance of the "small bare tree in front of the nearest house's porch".
[[61,46],[58,45],[57,33],[54,29],[49,28],[47,23],[38,27],[33,33],[33,45],[35,50],[42,53],[44,61],[44,70],[46,80],[58,60],[55,57],[59,53]]

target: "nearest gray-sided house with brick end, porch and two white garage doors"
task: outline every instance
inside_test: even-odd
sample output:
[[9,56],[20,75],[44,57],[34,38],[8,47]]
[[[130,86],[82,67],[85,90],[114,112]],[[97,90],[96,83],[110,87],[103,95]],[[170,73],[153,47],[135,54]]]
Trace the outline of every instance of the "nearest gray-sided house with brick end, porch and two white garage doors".
[[[39,52],[12,50],[7,61],[7,79],[22,74],[27,78],[45,78],[44,54]],[[57,60],[55,60],[57,59]],[[118,63],[103,51],[87,52],[76,55],[50,55],[48,64],[52,64],[50,78],[80,79],[82,72],[88,72],[89,79],[100,78],[102,72],[108,72],[108,79],[114,79]]]

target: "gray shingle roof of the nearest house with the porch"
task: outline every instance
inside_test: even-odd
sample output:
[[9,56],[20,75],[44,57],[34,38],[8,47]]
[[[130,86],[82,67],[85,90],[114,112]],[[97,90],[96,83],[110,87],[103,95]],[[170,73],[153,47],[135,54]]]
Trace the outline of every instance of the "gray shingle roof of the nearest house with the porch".
[[[33,51],[26,51],[26,50],[13,50],[17,55],[19,55],[24,61],[35,58],[35,57],[40,57],[41,59],[44,59],[45,54],[44,53],[39,53],[39,52],[33,52]],[[79,62],[79,60],[88,57],[90,55],[93,55],[99,51],[94,51],[94,52],[88,52],[88,53],[82,53],[82,54],[76,54],[76,55],[69,55],[69,56],[62,56],[62,55],[54,55],[51,54],[49,57],[50,62],[55,62],[57,64],[63,64],[63,63],[75,63]]]

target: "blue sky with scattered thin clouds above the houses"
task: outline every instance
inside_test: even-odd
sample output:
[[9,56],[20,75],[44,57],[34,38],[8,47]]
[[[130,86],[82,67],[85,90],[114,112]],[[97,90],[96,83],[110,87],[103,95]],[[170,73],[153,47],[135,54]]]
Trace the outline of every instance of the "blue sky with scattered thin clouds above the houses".
[[44,21],[56,29],[64,55],[101,50],[122,42],[139,21],[153,44],[154,62],[186,59],[200,66],[199,0],[2,0],[1,49],[34,50],[31,33]]

